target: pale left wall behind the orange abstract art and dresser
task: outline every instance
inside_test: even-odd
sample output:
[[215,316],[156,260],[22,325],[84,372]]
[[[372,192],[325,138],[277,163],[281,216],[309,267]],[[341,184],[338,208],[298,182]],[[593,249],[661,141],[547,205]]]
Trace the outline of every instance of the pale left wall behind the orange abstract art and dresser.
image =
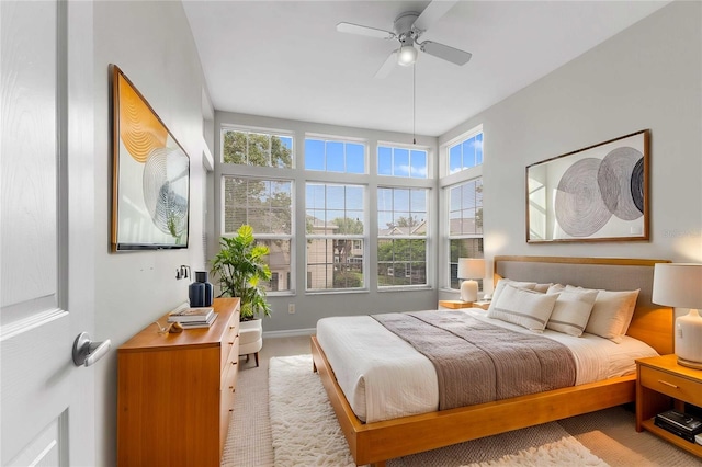
[[[117,65],[190,156],[190,247],[178,251],[110,252],[109,65]],[[97,459],[116,464],[116,349],[188,299],[176,267],[204,266],[203,102],[200,58],[182,4],[176,1],[94,3],[95,88],[95,335],[113,351],[95,365]],[[212,143],[212,141],[211,141]],[[87,277],[87,280],[89,280]]]

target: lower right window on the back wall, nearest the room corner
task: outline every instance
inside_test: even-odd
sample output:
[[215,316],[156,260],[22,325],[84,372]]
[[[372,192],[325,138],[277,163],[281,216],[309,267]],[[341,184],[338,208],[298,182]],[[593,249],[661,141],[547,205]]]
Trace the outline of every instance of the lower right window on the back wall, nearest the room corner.
[[377,189],[378,287],[427,284],[427,189]]

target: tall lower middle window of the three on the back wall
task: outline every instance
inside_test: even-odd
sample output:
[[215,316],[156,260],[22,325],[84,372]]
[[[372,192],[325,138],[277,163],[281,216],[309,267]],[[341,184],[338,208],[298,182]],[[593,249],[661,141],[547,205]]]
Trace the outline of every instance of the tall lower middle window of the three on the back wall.
[[364,186],[307,183],[307,289],[364,286]]

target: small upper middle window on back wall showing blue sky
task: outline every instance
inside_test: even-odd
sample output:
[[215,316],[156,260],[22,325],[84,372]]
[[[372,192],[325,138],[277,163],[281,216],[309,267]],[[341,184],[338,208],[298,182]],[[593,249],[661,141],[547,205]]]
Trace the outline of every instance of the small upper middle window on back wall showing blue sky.
[[305,170],[365,173],[365,145],[327,139],[305,139]]

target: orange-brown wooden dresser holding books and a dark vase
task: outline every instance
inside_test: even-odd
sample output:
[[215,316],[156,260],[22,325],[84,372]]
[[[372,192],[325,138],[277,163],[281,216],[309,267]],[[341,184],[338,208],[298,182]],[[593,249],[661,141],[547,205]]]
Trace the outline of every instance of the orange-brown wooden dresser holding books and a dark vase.
[[234,411],[239,299],[213,305],[208,329],[159,334],[154,323],[117,350],[120,466],[219,466]]

